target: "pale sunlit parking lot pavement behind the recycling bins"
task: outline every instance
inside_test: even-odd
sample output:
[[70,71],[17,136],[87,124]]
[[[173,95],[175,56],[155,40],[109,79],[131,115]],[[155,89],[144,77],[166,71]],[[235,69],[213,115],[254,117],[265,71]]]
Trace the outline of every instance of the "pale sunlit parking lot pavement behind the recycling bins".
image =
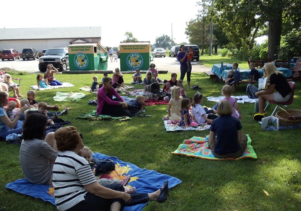
[[[120,59],[117,62],[110,62],[110,58],[108,58],[108,70],[115,70],[115,68],[120,68]],[[114,61],[114,60],[113,60]],[[168,70],[168,73],[180,73],[180,63],[177,61],[177,58],[174,57],[157,57],[154,58],[152,63],[156,64],[156,68],[158,70]],[[0,60],[0,68],[8,67],[13,68],[19,71],[26,71],[28,73],[38,73],[39,60],[25,60],[23,61],[22,58],[20,60]],[[193,61],[192,63],[192,71],[195,72],[204,72],[210,71],[211,68],[205,67],[200,65],[200,62]]]

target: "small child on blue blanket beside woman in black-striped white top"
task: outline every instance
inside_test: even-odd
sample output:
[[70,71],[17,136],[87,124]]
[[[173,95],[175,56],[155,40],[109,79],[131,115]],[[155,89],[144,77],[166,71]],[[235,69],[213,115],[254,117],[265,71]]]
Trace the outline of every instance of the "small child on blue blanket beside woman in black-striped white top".
[[[93,152],[89,149],[89,147],[83,147],[78,155],[82,156],[83,158],[85,158],[89,163],[91,163],[92,161],[92,157],[93,157]],[[91,168],[93,174],[95,175],[95,168]],[[119,179],[107,179],[107,178],[99,178],[99,180],[97,181],[98,184],[100,184],[101,186],[105,186],[108,184],[114,184],[114,183],[119,183],[122,186],[127,185],[127,183],[129,182],[130,179],[130,175],[127,175],[123,180],[119,180]],[[136,187],[133,187],[131,189],[124,187],[124,192],[125,193],[136,193]]]

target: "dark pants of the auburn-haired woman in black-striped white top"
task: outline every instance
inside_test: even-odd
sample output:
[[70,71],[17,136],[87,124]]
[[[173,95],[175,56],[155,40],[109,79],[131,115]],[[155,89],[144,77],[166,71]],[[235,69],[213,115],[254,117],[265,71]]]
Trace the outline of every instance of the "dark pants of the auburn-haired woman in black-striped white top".
[[[112,190],[117,190],[120,192],[124,192],[124,187],[121,184],[114,183],[104,186],[106,188],[110,188]],[[68,211],[82,211],[82,210],[109,210],[111,204],[114,202],[119,202],[121,207],[123,206],[132,206],[135,204],[146,203],[149,201],[147,193],[134,193],[131,194],[132,200],[130,202],[125,203],[121,198],[101,198],[92,193],[87,192],[84,196],[85,200],[77,203],[75,206],[67,209]]]

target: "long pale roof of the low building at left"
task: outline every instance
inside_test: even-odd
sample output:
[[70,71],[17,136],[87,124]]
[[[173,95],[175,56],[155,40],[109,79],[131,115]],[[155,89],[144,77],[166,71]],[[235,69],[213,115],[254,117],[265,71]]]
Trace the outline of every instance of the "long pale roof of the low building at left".
[[101,27],[2,28],[0,40],[101,38]]

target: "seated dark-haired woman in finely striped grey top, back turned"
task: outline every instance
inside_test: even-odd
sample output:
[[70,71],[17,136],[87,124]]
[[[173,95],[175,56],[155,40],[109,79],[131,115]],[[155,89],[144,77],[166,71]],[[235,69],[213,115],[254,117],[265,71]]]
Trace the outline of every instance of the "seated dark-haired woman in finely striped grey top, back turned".
[[[57,157],[54,133],[45,138],[47,118],[40,113],[32,113],[24,123],[23,140],[20,147],[22,173],[29,182],[52,184],[52,168]],[[45,141],[42,140],[45,138]]]

